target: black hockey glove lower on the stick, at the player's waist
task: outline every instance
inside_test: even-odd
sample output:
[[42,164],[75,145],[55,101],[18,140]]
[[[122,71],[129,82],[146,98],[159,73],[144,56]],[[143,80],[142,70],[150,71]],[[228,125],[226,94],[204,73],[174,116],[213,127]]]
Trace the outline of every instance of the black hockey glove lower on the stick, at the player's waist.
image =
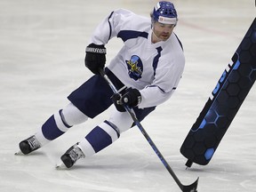
[[124,95],[120,96],[119,94],[114,94],[111,98],[116,106],[116,109],[120,112],[124,112],[125,108],[123,105],[128,107],[136,107],[141,102],[141,94],[139,90],[129,88],[124,92]]

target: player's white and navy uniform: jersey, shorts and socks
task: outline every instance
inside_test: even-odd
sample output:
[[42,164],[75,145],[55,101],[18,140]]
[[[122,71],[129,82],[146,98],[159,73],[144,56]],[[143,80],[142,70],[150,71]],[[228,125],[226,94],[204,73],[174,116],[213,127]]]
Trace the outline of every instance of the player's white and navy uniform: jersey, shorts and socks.
[[[168,40],[156,44],[152,44],[151,36],[150,18],[119,9],[102,20],[90,39],[94,44],[108,44],[113,37],[123,40],[124,46],[110,61],[106,73],[117,89],[126,86],[140,91],[141,102],[134,108],[140,121],[171,97],[185,65],[182,45],[173,32]],[[73,125],[98,116],[112,105],[112,94],[101,76],[92,76],[68,96],[71,103],[52,115],[36,132],[37,140],[44,145]],[[115,110],[108,120],[93,128],[78,147],[85,156],[92,156],[117,140],[132,123],[127,112]]]

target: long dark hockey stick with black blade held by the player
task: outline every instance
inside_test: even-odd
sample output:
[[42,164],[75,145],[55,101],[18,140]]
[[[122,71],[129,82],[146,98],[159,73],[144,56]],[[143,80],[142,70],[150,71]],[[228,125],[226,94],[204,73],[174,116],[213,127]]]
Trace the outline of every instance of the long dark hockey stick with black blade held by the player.
[[[116,90],[115,85],[112,84],[111,80],[108,78],[105,71],[101,68],[99,70],[100,70],[100,75],[105,78],[105,80],[107,81],[107,83],[108,83],[109,87],[112,89],[112,91],[116,94],[119,94],[119,92]],[[142,132],[142,134],[144,135],[146,140],[148,140],[149,145],[151,146],[151,148],[154,149],[156,155],[162,161],[162,163],[164,164],[167,171],[172,175],[173,180],[175,180],[175,182],[178,184],[181,191],[183,191],[183,192],[197,192],[196,188],[197,188],[199,178],[197,178],[197,180],[194,183],[192,183],[191,185],[188,185],[188,186],[183,185],[180,182],[180,180],[178,179],[178,177],[176,176],[176,174],[172,171],[171,166],[164,159],[164,156],[161,154],[161,152],[158,150],[158,148],[156,148],[156,145],[153,142],[153,140],[150,139],[148,133],[144,130],[143,126],[140,124],[140,121],[136,117],[133,109],[129,108],[127,105],[123,105],[123,106],[124,106],[125,110],[130,114],[130,116],[132,116],[132,120],[133,120],[134,124],[136,124],[138,126],[138,128],[140,129],[140,132]]]

